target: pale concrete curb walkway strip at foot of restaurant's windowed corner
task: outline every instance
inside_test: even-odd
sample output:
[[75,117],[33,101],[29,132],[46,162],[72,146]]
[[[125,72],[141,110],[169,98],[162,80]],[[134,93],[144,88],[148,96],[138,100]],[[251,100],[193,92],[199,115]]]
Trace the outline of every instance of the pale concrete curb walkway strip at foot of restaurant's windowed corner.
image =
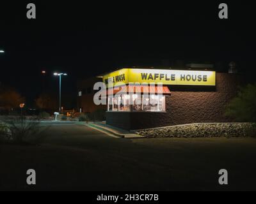
[[109,126],[108,124],[106,124],[106,122],[88,122],[86,123],[86,126],[99,129],[100,131],[105,131],[106,133],[110,133],[120,138],[127,138],[127,139],[145,138],[145,136],[136,135],[124,129]]

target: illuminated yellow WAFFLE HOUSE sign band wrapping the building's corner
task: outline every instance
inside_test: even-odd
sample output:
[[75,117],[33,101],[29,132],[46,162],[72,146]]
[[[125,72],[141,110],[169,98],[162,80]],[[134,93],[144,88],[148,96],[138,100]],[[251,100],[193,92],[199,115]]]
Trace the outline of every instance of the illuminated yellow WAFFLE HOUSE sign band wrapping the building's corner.
[[172,69],[120,69],[105,75],[103,82],[112,87],[122,82],[162,83],[163,85],[216,85],[215,71],[192,71]]

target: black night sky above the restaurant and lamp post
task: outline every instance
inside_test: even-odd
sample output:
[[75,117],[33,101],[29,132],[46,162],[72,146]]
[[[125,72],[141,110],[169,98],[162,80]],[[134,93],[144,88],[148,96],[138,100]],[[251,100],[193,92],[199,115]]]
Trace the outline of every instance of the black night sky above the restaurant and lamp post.
[[[68,3],[69,2],[69,3]],[[29,101],[48,87],[58,90],[54,71],[65,71],[63,89],[76,94],[77,78],[124,66],[157,66],[161,61],[236,61],[254,71],[255,11],[252,1],[228,3],[228,20],[218,18],[219,1],[157,4],[138,1],[95,4],[83,1],[0,3],[0,81]],[[85,1],[84,1],[85,2]],[[36,4],[36,20],[26,18]]]

